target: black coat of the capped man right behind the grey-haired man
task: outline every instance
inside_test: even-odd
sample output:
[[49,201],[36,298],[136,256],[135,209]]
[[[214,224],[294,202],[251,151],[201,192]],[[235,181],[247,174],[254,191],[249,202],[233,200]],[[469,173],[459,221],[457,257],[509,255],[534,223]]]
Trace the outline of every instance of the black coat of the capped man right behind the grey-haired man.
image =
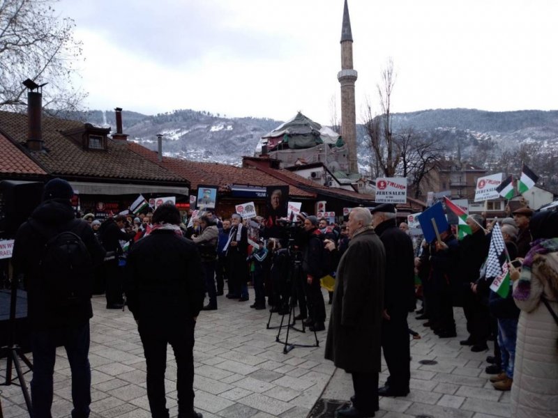
[[386,250],[386,281],[384,309],[389,316],[407,318],[409,309],[414,310],[414,249],[409,235],[389,219],[375,228]]

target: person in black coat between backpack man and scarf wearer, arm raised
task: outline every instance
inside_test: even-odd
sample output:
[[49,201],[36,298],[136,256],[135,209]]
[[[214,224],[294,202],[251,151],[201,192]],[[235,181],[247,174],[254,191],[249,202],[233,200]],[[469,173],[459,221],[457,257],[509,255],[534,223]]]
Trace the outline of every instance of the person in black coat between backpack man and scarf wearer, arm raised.
[[119,268],[119,256],[122,255],[120,241],[129,241],[134,238],[135,233],[122,231],[126,224],[124,215],[109,218],[100,226],[100,240],[107,251],[105,260],[105,271],[107,273],[107,286],[105,297],[107,298],[107,309],[122,309],[122,269]]

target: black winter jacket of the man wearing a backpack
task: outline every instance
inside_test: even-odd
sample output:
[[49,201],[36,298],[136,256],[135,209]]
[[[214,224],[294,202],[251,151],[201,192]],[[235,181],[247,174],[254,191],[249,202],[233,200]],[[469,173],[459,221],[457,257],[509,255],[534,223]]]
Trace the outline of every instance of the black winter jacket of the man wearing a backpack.
[[89,251],[91,274],[82,277],[83,280],[90,281],[89,288],[93,288],[93,268],[105,258],[105,250],[89,224],[75,219],[70,201],[50,199],[33,210],[29,221],[22,224],[17,231],[12,263],[16,274],[24,274],[27,316],[31,327],[36,330],[81,325],[93,316],[89,298],[64,311],[54,311],[52,298],[49,299],[48,290],[42,282],[40,261],[43,258],[45,243],[63,231],[73,231],[79,235]]

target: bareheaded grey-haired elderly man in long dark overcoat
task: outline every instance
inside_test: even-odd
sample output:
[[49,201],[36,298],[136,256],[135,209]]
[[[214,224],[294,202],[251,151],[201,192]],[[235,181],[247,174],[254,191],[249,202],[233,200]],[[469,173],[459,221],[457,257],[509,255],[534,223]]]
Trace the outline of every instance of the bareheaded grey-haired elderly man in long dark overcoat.
[[368,209],[349,214],[349,247],[341,257],[333,292],[326,359],[352,374],[352,406],[338,417],[374,417],[378,410],[380,336],[384,310],[384,245]]

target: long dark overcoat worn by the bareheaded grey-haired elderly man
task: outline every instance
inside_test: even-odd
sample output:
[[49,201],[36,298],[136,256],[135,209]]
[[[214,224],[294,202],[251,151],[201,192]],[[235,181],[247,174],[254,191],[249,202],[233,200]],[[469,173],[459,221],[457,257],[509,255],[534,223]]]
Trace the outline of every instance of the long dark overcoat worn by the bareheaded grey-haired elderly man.
[[325,357],[345,371],[380,370],[385,258],[369,229],[352,238],[339,262]]

